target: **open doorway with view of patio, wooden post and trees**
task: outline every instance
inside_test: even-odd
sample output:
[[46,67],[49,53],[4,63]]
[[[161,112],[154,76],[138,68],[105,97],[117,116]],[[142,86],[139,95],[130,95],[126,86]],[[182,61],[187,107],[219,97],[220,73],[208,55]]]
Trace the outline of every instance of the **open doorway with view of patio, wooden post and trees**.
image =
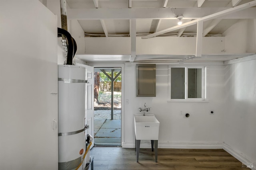
[[94,68],[94,145],[121,145],[121,67]]

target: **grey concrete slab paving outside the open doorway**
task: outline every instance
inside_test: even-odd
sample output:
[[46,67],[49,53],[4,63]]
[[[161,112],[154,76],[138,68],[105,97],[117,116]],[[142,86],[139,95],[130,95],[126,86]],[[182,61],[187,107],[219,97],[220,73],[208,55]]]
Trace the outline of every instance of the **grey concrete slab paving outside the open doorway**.
[[94,145],[121,145],[121,110],[94,111]]

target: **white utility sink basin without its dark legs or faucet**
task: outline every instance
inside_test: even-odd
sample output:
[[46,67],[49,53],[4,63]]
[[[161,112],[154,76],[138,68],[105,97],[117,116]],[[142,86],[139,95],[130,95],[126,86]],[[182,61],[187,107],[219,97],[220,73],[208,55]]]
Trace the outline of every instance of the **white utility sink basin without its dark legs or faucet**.
[[153,114],[134,114],[136,140],[158,140],[159,124]]

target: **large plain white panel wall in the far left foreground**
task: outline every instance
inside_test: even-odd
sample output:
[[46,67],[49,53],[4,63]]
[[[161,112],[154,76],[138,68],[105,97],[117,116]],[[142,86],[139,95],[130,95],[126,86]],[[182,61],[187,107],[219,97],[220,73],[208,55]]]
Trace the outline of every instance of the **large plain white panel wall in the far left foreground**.
[[37,0],[0,5],[0,170],[57,170],[57,18]]

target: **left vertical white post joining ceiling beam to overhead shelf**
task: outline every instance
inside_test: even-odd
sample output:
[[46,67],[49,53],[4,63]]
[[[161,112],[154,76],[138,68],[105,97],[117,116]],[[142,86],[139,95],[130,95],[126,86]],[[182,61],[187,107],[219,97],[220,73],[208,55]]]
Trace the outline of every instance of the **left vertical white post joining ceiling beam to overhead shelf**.
[[134,62],[136,57],[136,20],[130,20],[130,37],[131,37],[131,57],[130,62]]

